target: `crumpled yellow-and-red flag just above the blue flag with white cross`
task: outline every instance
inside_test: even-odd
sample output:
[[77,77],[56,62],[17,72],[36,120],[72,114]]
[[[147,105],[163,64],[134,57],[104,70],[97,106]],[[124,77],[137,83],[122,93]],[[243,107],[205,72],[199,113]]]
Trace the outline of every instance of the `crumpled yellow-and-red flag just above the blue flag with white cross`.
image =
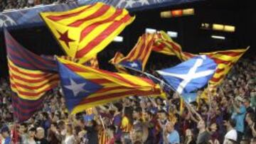
[[182,61],[189,60],[191,57],[197,56],[189,52],[183,52],[181,45],[174,42],[174,40],[172,40],[164,31],[159,32],[159,37],[155,41],[153,50],[166,55],[176,55]]

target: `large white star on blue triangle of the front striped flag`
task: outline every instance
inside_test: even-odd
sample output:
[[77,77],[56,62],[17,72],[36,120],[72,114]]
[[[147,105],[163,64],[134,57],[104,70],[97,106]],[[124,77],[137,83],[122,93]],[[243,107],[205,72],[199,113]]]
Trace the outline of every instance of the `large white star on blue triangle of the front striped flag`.
[[73,92],[74,96],[78,96],[78,93],[80,92],[88,92],[87,90],[83,89],[85,85],[86,85],[86,82],[78,84],[73,79],[70,79],[70,85],[66,85],[64,87],[66,89],[70,89]]

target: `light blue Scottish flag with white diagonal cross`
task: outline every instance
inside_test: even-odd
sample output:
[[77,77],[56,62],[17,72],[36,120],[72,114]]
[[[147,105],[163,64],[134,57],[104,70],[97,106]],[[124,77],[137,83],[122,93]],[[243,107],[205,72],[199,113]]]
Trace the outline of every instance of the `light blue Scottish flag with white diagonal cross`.
[[179,94],[200,89],[213,77],[217,65],[206,55],[193,57],[175,67],[157,71]]

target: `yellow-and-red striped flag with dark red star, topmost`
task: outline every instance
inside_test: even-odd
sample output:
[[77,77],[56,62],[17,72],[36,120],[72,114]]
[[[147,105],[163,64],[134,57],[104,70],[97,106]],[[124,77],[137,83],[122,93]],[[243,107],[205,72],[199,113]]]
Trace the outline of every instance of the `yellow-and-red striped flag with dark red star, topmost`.
[[134,21],[126,9],[103,3],[63,12],[43,12],[41,17],[70,57],[86,62],[103,50]]

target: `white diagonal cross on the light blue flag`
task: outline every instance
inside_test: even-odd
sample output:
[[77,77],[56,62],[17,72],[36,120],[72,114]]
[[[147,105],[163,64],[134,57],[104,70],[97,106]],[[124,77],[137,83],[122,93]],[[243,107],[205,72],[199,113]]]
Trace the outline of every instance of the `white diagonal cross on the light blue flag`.
[[199,77],[206,77],[210,74],[213,74],[215,70],[205,70],[202,72],[196,72],[198,67],[200,67],[203,64],[203,60],[206,59],[206,55],[202,55],[201,59],[197,59],[196,63],[193,65],[193,67],[188,71],[187,74],[175,74],[171,72],[163,72],[163,71],[157,71],[159,74],[171,76],[171,77],[178,77],[179,79],[183,79],[183,81],[178,85],[178,88],[176,91],[179,94],[182,94],[183,89],[186,87],[186,85],[191,82],[192,79],[198,79]]

